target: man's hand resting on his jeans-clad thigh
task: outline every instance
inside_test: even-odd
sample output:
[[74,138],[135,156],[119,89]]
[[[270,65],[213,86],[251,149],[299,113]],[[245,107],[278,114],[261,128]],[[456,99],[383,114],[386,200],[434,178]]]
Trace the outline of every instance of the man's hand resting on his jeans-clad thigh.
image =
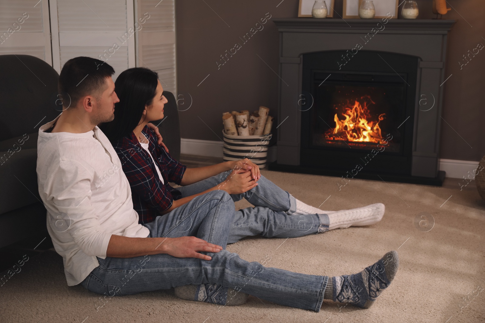
[[210,256],[203,255],[199,252],[219,252],[222,250],[222,246],[210,244],[207,241],[197,237],[161,239],[163,240],[159,248],[163,249],[163,253],[177,258],[198,258],[203,260],[211,260],[212,258]]

